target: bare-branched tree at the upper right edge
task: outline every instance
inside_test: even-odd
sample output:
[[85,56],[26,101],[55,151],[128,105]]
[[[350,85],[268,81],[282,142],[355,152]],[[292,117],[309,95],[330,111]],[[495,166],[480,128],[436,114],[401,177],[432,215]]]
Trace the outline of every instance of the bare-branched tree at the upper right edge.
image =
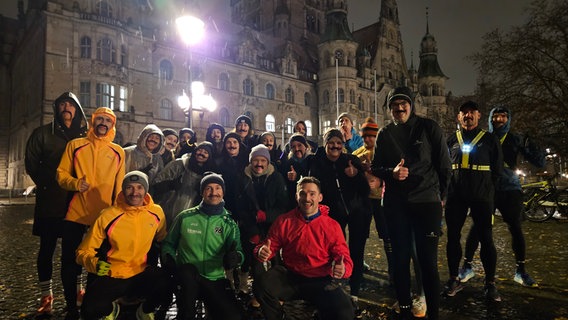
[[477,95],[506,105],[515,130],[568,156],[568,2],[536,0],[529,20],[484,36],[470,57],[479,71]]

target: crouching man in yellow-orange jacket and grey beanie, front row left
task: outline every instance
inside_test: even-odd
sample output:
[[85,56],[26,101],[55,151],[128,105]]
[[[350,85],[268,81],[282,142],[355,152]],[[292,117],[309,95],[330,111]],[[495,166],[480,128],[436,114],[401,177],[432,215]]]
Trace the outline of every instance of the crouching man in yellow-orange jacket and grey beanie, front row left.
[[161,269],[147,265],[147,256],[165,237],[166,219],[148,194],[148,176],[127,173],[116,205],[101,212],[77,249],[77,263],[89,272],[83,319],[116,319],[115,300],[124,296],[145,299],[136,319],[154,319],[168,284]]

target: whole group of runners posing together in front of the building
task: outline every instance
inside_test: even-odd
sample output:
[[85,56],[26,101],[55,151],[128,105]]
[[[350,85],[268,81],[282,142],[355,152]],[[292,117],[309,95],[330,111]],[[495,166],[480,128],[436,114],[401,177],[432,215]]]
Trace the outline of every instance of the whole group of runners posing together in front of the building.
[[[474,276],[479,242],[486,295],[500,300],[495,207],[513,235],[514,280],[536,286],[524,266],[514,169],[519,153],[537,165],[544,158],[508,132],[510,111],[494,109],[486,132],[478,127],[477,104],[467,102],[458,114],[460,129],[446,140],[436,122],[415,114],[409,88],[393,89],[387,105],[391,124],[380,129],[367,118],[359,134],[343,113],[321,147],[299,121],[281,151],[274,134],[256,135],[252,120],[241,115],[230,132],[211,124],[200,142],[190,128],[148,124],[136,144],[123,148],[112,142],[117,118],[111,109],[98,108],[87,121],[77,97],[62,94],[53,122],[37,128],[26,147],[26,170],[37,185],[38,314],[52,312],[53,254],[61,238],[69,320],[116,319],[121,298],[142,299],[138,319],[163,318],[173,295],[178,319],[193,319],[197,300],[211,319],[241,319],[239,294],[269,320],[282,319],[282,303],[295,299],[313,303],[321,319],[357,318],[374,218],[400,318],[438,319],[444,207],[446,296]],[[468,210],[474,225],[460,270]]]

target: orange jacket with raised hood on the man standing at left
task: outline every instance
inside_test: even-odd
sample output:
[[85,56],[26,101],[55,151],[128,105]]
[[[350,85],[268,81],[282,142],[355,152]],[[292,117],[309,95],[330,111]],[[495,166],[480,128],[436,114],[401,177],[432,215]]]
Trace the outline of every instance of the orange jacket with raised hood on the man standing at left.
[[[107,134],[98,137],[93,127],[98,115],[113,119]],[[75,191],[65,220],[92,225],[101,210],[110,207],[122,190],[124,179],[124,150],[112,140],[116,135],[116,116],[106,107],[95,110],[86,138],[71,140],[57,168],[57,182],[69,191]],[[89,189],[79,192],[79,182],[85,178]]]

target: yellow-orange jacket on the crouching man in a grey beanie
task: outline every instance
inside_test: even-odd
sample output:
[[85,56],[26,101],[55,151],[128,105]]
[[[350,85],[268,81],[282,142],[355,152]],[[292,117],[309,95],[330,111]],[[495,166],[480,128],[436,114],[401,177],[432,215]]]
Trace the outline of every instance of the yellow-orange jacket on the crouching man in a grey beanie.
[[146,269],[154,241],[166,237],[166,220],[160,206],[146,193],[142,206],[130,206],[120,192],[116,205],[101,212],[77,249],[77,263],[90,273],[99,260],[110,263],[110,277],[126,279]]

